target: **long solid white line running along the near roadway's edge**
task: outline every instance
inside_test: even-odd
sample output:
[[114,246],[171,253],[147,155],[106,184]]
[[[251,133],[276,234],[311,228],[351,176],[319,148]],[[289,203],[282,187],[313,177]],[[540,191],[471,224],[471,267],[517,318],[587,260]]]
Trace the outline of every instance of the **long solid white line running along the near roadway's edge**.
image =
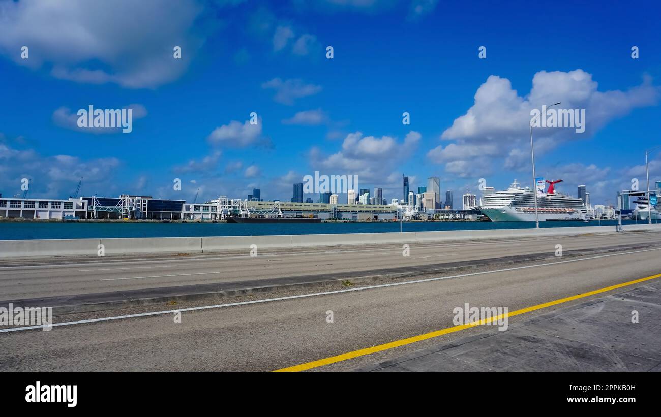
[[[188,308],[182,308],[182,309],[175,309],[175,310],[165,310],[165,311],[153,311],[151,313],[137,313],[137,314],[128,314],[128,315],[118,315],[115,317],[102,317],[100,319],[86,319],[86,320],[77,320],[77,321],[65,321],[63,323],[52,323],[52,327],[56,326],[71,326],[71,325],[80,325],[80,324],[85,324],[85,323],[97,323],[99,321],[114,321],[114,320],[123,320],[123,319],[134,319],[136,317],[148,317],[152,315],[163,315],[163,314],[173,314],[175,312],[182,313],[184,311],[200,311],[200,310],[207,310],[207,309],[214,309],[214,308],[221,308],[221,307],[234,307],[236,305],[247,305],[247,304],[260,304],[260,303],[267,303],[267,302],[274,302],[274,301],[282,301],[282,300],[293,300],[295,298],[307,298],[307,297],[315,297],[315,296],[327,296],[329,294],[340,294],[342,292],[351,292],[351,291],[363,291],[363,290],[373,290],[375,288],[387,288],[387,287],[394,287],[394,286],[401,286],[401,285],[409,285],[409,284],[420,284],[422,282],[432,282],[432,281],[440,281],[440,280],[447,280],[451,278],[463,278],[465,276],[475,276],[475,275],[485,275],[485,274],[494,274],[494,273],[502,273],[506,271],[516,271],[517,269],[528,269],[528,268],[536,268],[536,267],[547,267],[549,265],[559,265],[561,263],[570,263],[570,262],[578,262],[578,261],[588,261],[590,259],[600,259],[600,258],[607,258],[607,257],[612,257],[612,256],[622,256],[622,255],[632,255],[633,253],[642,253],[642,252],[650,252],[650,251],[659,251],[661,250],[660,248],[656,249],[644,249],[642,251],[633,251],[633,252],[624,252],[624,253],[612,253],[609,255],[599,255],[599,256],[594,256],[594,257],[587,257],[587,258],[578,258],[578,259],[568,259],[566,261],[557,261],[557,262],[549,262],[549,263],[539,263],[536,265],[526,265],[524,267],[514,267],[514,268],[505,268],[505,269],[497,269],[494,271],[483,271],[480,273],[470,273],[470,274],[459,274],[459,275],[451,275],[451,276],[439,276],[437,278],[426,278],[424,280],[414,280],[414,281],[406,281],[406,282],[393,282],[391,284],[381,284],[381,285],[371,285],[371,286],[366,286],[366,287],[361,287],[361,288],[348,288],[346,290],[334,290],[334,291],[325,291],[325,292],[313,292],[310,294],[300,294],[297,296],[286,296],[286,297],[276,297],[276,298],[266,298],[264,300],[253,300],[253,301],[243,301],[243,302],[237,302],[237,303],[229,303],[229,304],[216,304],[216,305],[203,305],[201,307],[188,307]],[[40,325],[40,326],[26,326],[26,327],[13,327],[11,329],[0,329],[0,333],[7,333],[7,332],[15,332],[15,331],[20,331],[20,330],[30,330],[30,329],[43,329],[44,327],[49,327],[48,325]]]

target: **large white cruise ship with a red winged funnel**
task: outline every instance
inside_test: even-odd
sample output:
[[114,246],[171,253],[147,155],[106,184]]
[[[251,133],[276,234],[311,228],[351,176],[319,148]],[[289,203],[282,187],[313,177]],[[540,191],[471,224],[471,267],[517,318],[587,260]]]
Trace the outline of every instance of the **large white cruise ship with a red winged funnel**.
[[[562,182],[546,181],[549,188],[537,197],[539,221],[582,220],[586,218],[586,207],[582,199],[555,191],[555,184]],[[535,201],[533,191],[519,187],[514,180],[506,191],[496,191],[482,197],[482,206],[476,207],[492,222],[534,222]]]

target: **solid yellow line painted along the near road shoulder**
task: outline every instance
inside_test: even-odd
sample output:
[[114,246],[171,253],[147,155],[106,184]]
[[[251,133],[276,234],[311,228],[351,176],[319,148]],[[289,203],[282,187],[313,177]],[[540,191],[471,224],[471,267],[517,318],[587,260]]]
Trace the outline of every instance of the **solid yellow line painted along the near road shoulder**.
[[312,362],[307,362],[305,364],[290,366],[288,368],[277,369],[275,372],[305,371],[307,369],[318,368],[319,366],[334,364],[335,362],[342,362],[344,360],[358,358],[358,356],[365,356],[365,355],[373,354],[373,353],[376,353],[376,352],[383,352],[383,350],[389,350],[389,349],[397,348],[399,346],[405,346],[407,344],[420,342],[422,340],[427,340],[427,339],[430,339],[430,338],[439,337],[439,336],[442,336],[442,335],[447,335],[448,333],[454,333],[454,332],[457,332],[457,331],[460,331],[460,330],[463,330],[463,329],[468,329],[469,327],[485,325],[486,323],[498,321],[499,319],[503,319],[504,317],[513,317],[515,315],[529,313],[530,311],[535,311],[535,310],[543,309],[543,308],[546,308],[546,307],[551,307],[552,305],[563,304],[563,303],[566,303],[566,302],[570,302],[572,300],[578,300],[580,298],[594,296],[595,294],[600,294],[602,292],[617,290],[617,288],[623,288],[625,286],[630,286],[630,285],[633,285],[633,284],[639,284],[640,282],[645,282],[645,281],[652,280],[654,278],[660,278],[660,277],[661,277],[661,274],[646,276],[645,278],[640,278],[640,279],[629,281],[629,282],[623,282],[622,284],[612,285],[612,286],[609,286],[609,287],[606,287],[606,288],[600,288],[599,290],[586,292],[584,294],[578,294],[576,296],[561,298],[560,300],[555,300],[555,301],[551,301],[551,302],[547,302],[547,303],[543,303],[543,304],[537,304],[537,305],[533,305],[531,307],[525,307],[525,308],[522,308],[522,309],[519,309],[519,310],[516,310],[516,311],[512,311],[511,313],[508,313],[508,314],[502,314],[502,315],[498,315],[497,317],[491,317],[490,319],[482,319],[481,321],[479,321],[479,323],[471,323],[471,324],[467,324],[467,325],[458,325],[458,326],[454,326],[454,327],[448,327],[447,329],[437,330],[437,331],[433,331],[433,332],[430,332],[430,333],[424,333],[423,335],[403,338],[403,339],[400,339],[400,340],[395,340],[394,342],[379,344],[377,346],[372,346],[371,348],[364,348],[364,349],[354,350],[353,352],[347,352],[347,353],[344,353],[344,354],[341,354],[341,355],[331,356],[330,358],[314,360]]

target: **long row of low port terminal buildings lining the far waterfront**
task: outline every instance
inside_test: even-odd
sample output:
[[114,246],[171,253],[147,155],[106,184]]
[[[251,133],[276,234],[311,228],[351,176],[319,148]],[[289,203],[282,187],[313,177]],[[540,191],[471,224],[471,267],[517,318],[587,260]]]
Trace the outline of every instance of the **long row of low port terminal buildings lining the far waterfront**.
[[221,196],[206,203],[154,199],[122,194],[120,197],[69,199],[0,198],[0,218],[65,220],[66,218],[114,220],[223,220],[237,217],[321,218],[322,220],[393,221],[475,220],[477,210],[421,210],[409,205],[362,205],[249,201]]

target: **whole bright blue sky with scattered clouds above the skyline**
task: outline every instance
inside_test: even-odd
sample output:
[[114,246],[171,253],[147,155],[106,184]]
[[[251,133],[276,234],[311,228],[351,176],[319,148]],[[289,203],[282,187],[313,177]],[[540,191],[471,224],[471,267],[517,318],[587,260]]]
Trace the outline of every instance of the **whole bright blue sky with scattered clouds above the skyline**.
[[[0,193],[19,193],[29,177],[32,197],[67,197],[83,176],[83,195],[191,201],[198,187],[200,199],[258,187],[288,200],[315,170],[358,175],[387,199],[402,198],[402,174],[412,187],[439,176],[455,195],[477,191],[480,178],[529,185],[529,110],[561,101],[586,110],[586,131],[533,131],[539,176],[614,203],[631,178],[644,181],[644,150],[661,144],[660,9],[0,0]],[[77,128],[89,105],[132,106],[133,131]]]

